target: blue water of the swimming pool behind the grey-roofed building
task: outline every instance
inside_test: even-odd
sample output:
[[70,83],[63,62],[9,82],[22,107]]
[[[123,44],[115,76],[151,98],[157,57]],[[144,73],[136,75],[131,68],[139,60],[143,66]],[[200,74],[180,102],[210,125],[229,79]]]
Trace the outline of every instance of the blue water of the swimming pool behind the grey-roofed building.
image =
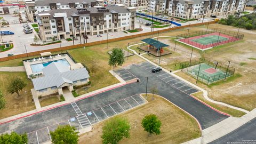
[[68,67],[70,66],[66,59],[61,59],[61,60],[54,60],[54,61],[44,62],[44,63],[37,63],[35,65],[30,65],[30,67],[31,67],[33,73],[40,73],[40,72],[42,72],[43,68],[45,68],[46,66],[48,66],[52,62],[62,63],[63,65],[68,66]]

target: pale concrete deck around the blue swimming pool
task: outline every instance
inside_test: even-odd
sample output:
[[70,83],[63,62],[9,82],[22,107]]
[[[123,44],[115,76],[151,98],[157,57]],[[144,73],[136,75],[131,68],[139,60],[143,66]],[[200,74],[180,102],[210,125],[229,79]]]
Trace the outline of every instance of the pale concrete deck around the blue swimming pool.
[[[28,61],[28,60],[23,61],[23,65],[26,69],[27,77],[30,78],[29,75],[37,74],[37,73],[33,73],[30,65],[35,65],[35,64],[38,64],[38,63],[44,63],[44,62],[55,61],[55,60],[61,60],[61,59],[66,59],[68,61],[69,65],[75,64],[75,62],[68,56],[68,54],[62,54],[62,55],[52,56],[51,59],[49,58],[49,59],[42,60],[42,58],[41,58],[41,60],[39,60],[38,58],[36,58],[34,61]],[[40,72],[40,73],[42,73],[42,72]]]

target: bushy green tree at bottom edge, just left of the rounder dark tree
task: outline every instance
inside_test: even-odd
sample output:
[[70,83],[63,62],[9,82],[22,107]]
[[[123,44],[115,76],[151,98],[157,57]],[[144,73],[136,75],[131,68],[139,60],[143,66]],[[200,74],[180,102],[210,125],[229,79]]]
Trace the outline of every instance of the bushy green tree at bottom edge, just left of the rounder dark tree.
[[102,143],[116,144],[123,138],[129,138],[130,129],[131,126],[127,119],[115,116],[114,118],[109,119],[102,128]]

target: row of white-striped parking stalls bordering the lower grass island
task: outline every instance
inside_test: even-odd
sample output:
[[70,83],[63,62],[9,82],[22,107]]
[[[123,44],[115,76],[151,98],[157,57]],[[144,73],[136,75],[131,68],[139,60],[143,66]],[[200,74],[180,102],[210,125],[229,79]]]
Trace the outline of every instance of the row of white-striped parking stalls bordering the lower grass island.
[[[125,99],[121,99],[113,103],[109,103],[106,106],[98,107],[97,109],[87,111],[83,115],[86,115],[86,117],[89,119],[91,124],[95,124],[107,118],[110,118],[112,116],[123,113],[124,111],[143,105],[146,102],[147,101],[143,99],[139,94],[136,94],[136,95],[132,95],[131,97],[127,97]],[[84,126],[82,126],[83,119],[81,121],[81,119],[78,119],[78,117],[79,116],[71,117],[69,119],[66,119],[65,121],[61,121],[61,122],[43,127],[36,131],[29,132],[28,143],[44,143],[44,142],[50,141],[51,140],[50,131],[54,131],[55,129],[57,129],[59,125],[75,126],[77,130],[84,128]]]

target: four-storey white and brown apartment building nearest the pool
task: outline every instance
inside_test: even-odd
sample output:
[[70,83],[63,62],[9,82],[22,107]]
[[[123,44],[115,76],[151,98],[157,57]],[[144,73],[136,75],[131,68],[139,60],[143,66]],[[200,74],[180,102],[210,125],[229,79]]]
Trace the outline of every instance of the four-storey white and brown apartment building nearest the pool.
[[136,7],[95,6],[39,12],[39,37],[44,42],[81,35],[100,35],[135,28]]

